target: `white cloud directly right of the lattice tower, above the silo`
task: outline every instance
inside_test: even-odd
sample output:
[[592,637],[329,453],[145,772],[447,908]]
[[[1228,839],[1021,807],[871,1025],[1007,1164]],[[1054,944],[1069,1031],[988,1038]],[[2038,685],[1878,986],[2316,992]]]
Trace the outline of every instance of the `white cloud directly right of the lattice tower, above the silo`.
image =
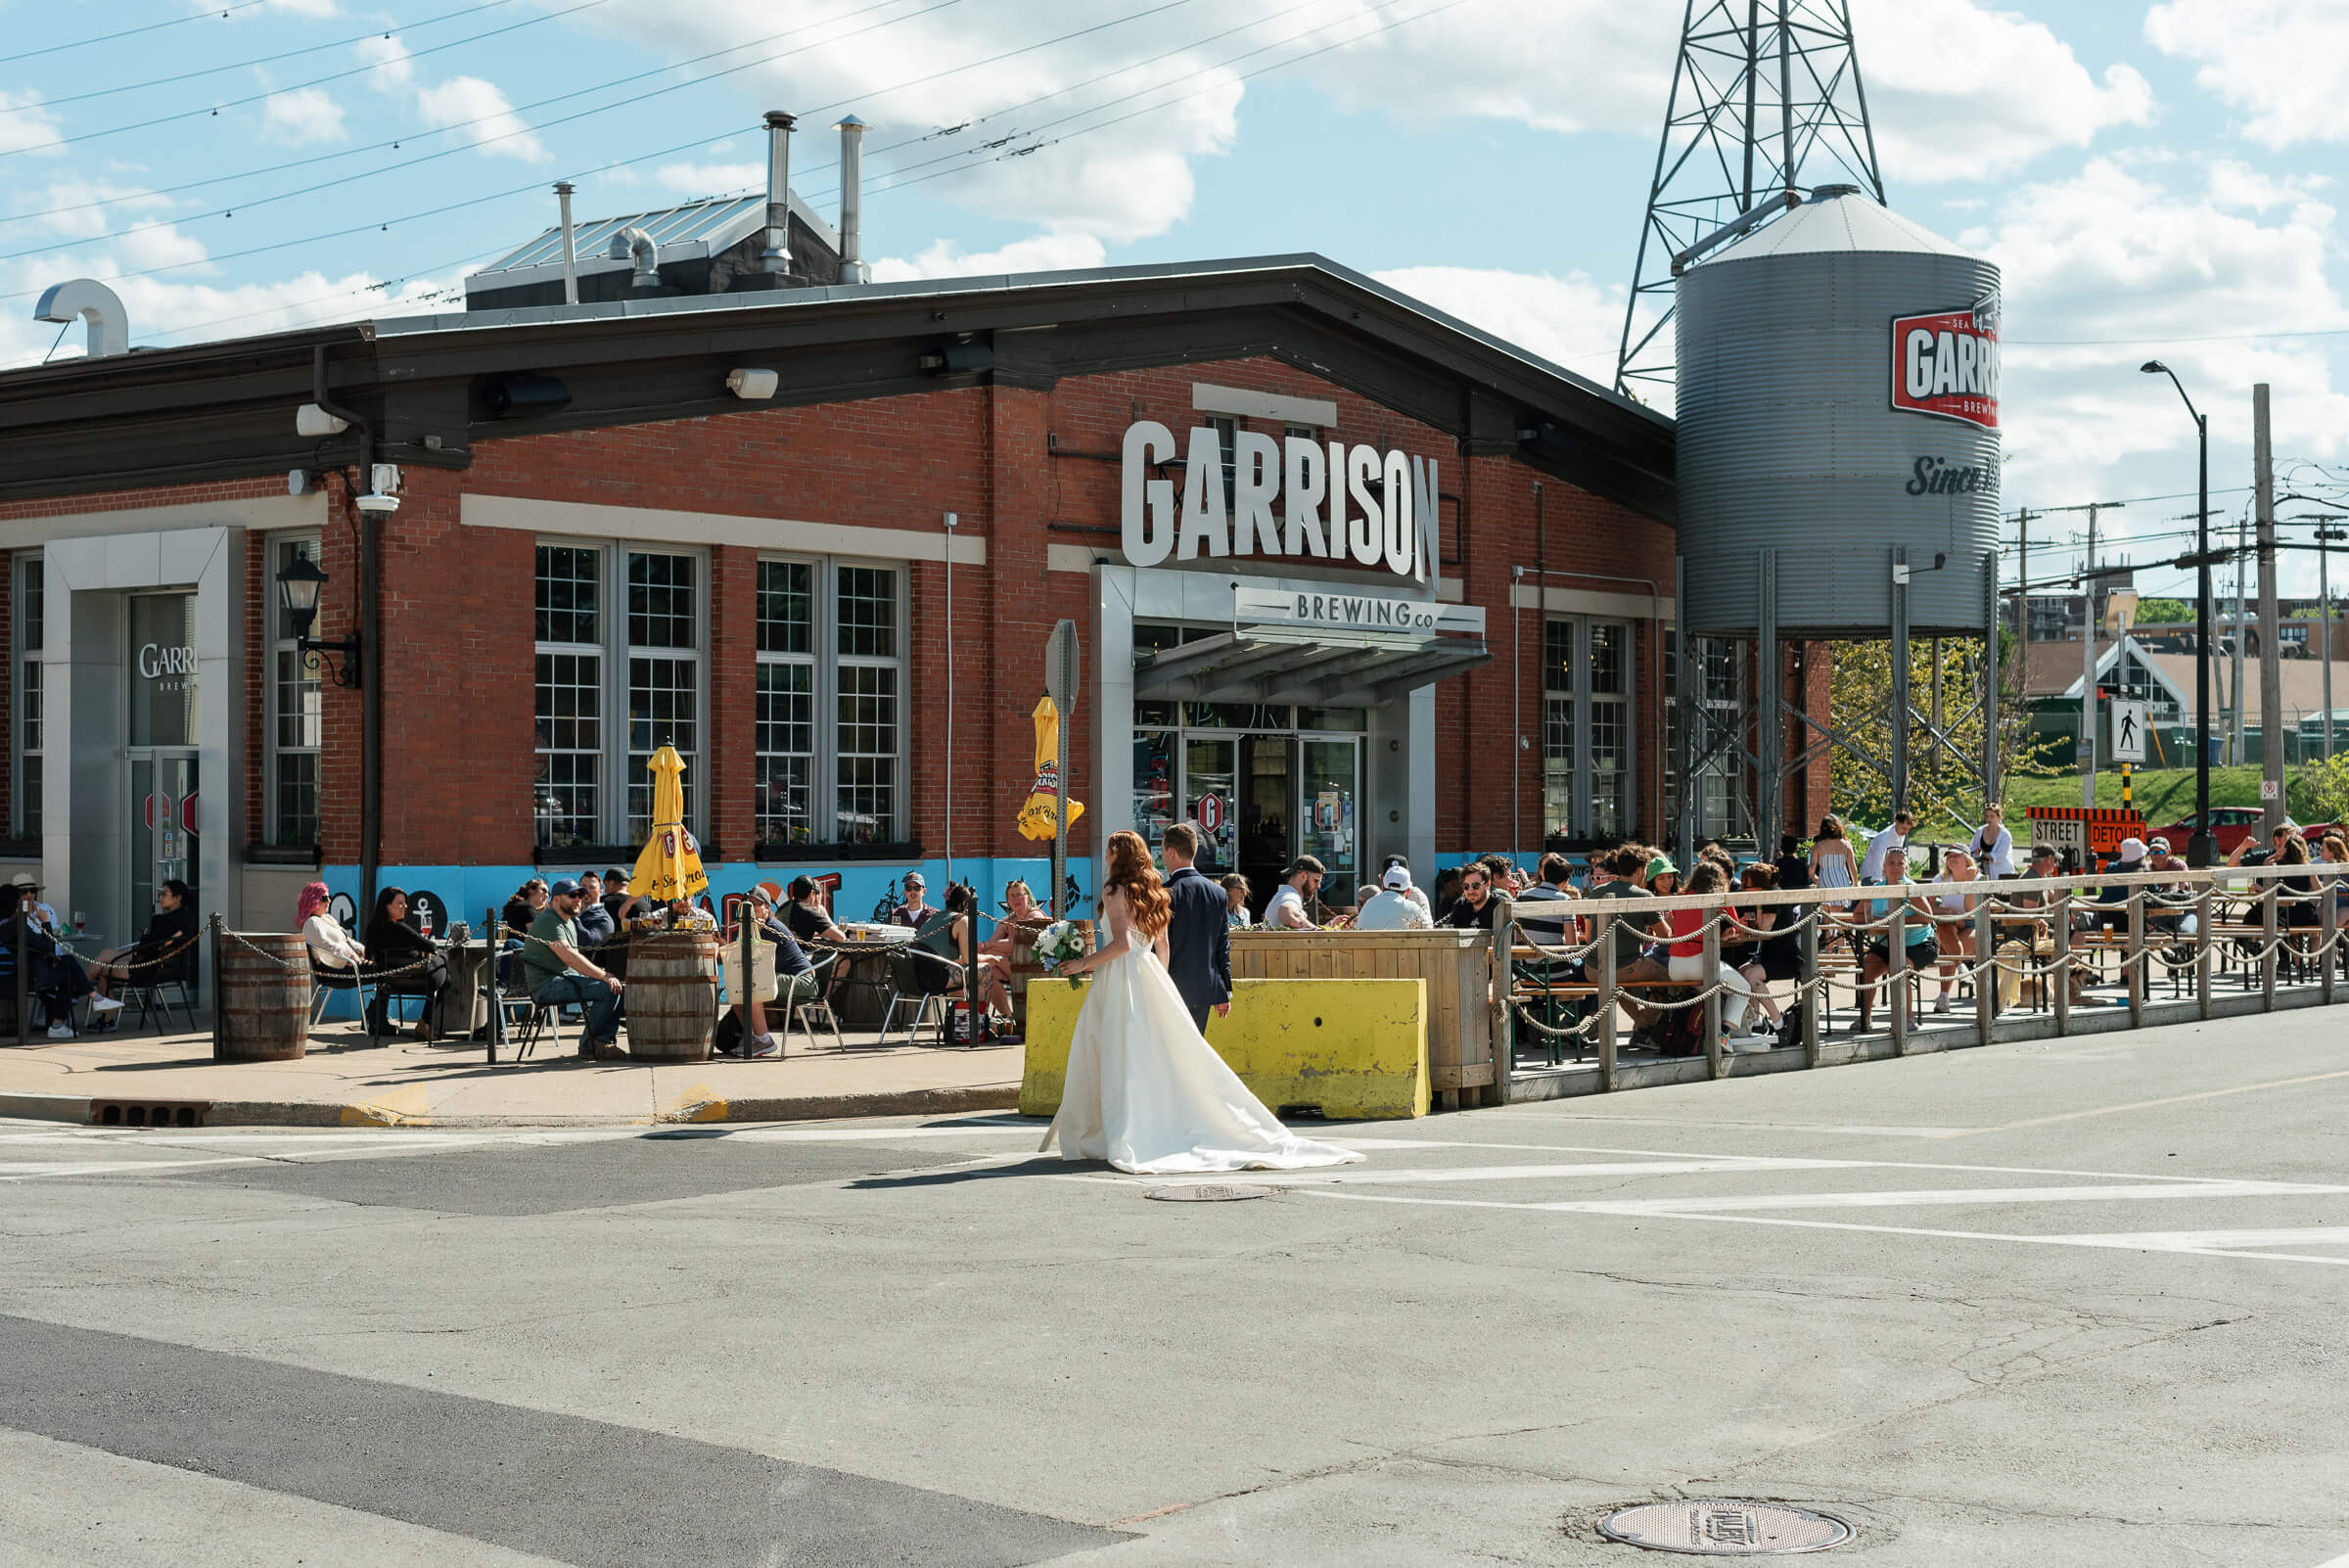
[[2116,124],[2152,124],[2131,66],[2102,80],[2044,21],[1978,0],[1860,0],[1853,35],[1889,188],[2011,174]]

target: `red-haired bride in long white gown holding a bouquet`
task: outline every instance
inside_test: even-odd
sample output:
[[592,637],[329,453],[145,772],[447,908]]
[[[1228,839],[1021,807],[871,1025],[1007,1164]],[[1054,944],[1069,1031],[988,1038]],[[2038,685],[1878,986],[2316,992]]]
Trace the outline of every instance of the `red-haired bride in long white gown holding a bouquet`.
[[1106,1160],[1137,1176],[1290,1171],[1362,1157],[1283,1127],[1191,1026],[1165,969],[1167,894],[1139,833],[1109,836],[1102,920],[1109,941],[1059,967],[1090,974],[1092,988],[1076,1014],[1059,1115],[1041,1150],[1059,1141],[1062,1160]]

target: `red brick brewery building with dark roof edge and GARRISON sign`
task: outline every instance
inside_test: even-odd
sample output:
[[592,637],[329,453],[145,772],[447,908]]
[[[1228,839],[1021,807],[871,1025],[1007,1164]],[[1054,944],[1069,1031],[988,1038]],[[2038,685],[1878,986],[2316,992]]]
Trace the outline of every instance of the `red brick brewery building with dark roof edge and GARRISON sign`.
[[[1085,885],[1172,817],[1259,904],[1668,822],[1672,425],[1311,256],[14,371],[0,549],[12,847],[101,934],[162,876],[282,927],[317,866],[479,911],[625,861],[658,744],[721,890],[1041,887],[1059,620]],[[357,657],[294,646],[298,556]]]

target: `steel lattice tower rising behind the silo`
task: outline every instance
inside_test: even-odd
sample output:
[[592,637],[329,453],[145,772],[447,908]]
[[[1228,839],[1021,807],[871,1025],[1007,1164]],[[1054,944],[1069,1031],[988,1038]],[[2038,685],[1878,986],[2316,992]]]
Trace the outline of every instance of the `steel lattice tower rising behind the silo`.
[[[1825,183],[1884,202],[1849,0],[1689,0],[1616,390],[1647,401],[1670,390],[1672,279],[1691,246],[1766,223],[1795,192]],[[1649,326],[1642,303],[1656,312]]]

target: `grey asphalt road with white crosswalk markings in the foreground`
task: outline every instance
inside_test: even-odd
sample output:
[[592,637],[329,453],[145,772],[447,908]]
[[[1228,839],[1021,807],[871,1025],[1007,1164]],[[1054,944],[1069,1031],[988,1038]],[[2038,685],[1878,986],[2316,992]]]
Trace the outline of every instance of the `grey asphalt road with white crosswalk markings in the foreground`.
[[[2323,1012],[1409,1124],[0,1124],[0,1563],[2349,1566]],[[2340,1563],[2335,1561],[2340,1559]]]

